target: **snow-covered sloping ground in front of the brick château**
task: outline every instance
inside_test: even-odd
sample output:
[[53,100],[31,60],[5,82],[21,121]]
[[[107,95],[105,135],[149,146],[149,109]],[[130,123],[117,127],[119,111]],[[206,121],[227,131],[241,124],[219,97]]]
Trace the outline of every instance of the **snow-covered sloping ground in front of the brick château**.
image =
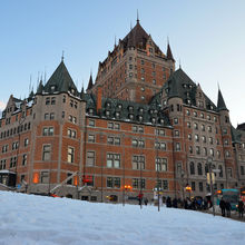
[[199,212],[0,192],[0,245],[245,244],[245,223]]

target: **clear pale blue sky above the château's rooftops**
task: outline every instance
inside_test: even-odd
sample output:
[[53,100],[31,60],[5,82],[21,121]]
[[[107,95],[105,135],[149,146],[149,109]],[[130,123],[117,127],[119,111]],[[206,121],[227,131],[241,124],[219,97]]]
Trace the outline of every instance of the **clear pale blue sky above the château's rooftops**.
[[244,0],[0,0],[0,108],[24,98],[38,74],[65,63],[78,89],[96,77],[116,40],[136,23],[216,104],[218,85],[234,126],[245,122]]

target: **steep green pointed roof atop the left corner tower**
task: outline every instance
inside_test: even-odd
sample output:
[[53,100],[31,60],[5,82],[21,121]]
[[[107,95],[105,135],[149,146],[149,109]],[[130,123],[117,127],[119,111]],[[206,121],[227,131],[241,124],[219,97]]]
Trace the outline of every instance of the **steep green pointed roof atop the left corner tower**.
[[48,82],[45,85],[43,90],[46,92],[68,92],[72,89],[75,90],[75,94],[78,94],[77,87],[75,86],[74,80],[70,77],[67,67],[62,60],[52,74],[52,76],[49,78]]

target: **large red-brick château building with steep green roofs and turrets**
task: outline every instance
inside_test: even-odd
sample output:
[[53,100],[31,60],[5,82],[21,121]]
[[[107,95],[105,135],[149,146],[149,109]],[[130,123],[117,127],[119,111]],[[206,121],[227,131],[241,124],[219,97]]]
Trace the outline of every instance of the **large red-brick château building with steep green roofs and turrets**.
[[189,185],[206,196],[208,158],[215,188],[244,186],[245,127],[231,125],[219,89],[215,105],[175,70],[169,43],[165,55],[139,20],[86,92],[61,60],[27,99],[10,96],[0,119],[1,188],[122,202],[156,188],[184,197]]

